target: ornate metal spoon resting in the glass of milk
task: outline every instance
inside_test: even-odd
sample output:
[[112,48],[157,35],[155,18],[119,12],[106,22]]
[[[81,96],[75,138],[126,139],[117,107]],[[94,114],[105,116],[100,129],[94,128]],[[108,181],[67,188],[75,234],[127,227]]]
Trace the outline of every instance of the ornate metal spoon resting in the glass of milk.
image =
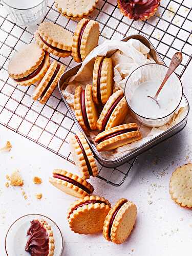
[[160,104],[157,101],[157,97],[161,91],[161,89],[163,88],[164,84],[166,83],[167,79],[169,78],[169,76],[177,69],[177,67],[179,66],[179,64],[182,61],[182,53],[181,52],[176,52],[173,57],[172,57],[172,61],[170,61],[170,65],[168,67],[167,73],[158,89],[158,91],[156,92],[155,96],[147,96],[149,98],[152,98],[153,100],[155,100],[155,102],[158,104],[159,108],[160,108]]

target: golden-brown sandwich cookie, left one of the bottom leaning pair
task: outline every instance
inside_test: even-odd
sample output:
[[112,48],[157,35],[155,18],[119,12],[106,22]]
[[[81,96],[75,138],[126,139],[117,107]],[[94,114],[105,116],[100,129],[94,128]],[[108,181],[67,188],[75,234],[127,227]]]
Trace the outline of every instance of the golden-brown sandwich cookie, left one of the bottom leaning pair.
[[111,209],[108,200],[99,196],[87,196],[75,201],[68,211],[71,230],[79,234],[95,234],[102,231],[103,222]]

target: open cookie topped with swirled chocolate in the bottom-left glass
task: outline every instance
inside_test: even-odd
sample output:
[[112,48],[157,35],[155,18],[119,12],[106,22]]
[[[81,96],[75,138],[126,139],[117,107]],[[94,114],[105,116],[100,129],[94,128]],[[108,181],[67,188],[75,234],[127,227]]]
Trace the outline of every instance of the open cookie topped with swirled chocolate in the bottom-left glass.
[[27,231],[28,241],[25,250],[31,255],[54,255],[54,237],[51,226],[45,220],[33,220]]

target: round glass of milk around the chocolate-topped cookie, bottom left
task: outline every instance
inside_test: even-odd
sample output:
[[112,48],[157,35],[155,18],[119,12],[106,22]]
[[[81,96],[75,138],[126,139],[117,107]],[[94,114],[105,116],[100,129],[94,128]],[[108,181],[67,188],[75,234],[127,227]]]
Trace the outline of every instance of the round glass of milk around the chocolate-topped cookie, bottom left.
[[27,231],[31,225],[30,222],[36,219],[44,219],[51,226],[55,239],[54,255],[62,255],[64,240],[57,224],[46,216],[30,214],[17,219],[8,229],[5,238],[5,250],[8,256],[29,256],[29,253],[25,251],[25,245],[28,240]]

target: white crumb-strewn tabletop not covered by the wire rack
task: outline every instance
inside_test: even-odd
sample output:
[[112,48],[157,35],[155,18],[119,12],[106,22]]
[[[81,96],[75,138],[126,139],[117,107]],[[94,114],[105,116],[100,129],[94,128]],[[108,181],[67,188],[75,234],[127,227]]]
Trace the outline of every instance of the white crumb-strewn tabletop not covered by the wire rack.
[[[192,63],[191,63],[192,64]],[[182,81],[191,106],[192,65]],[[107,242],[102,234],[78,235],[70,231],[66,213],[75,198],[49,184],[54,168],[76,172],[76,167],[35,143],[0,126],[0,146],[10,140],[10,153],[0,153],[0,248],[4,249],[5,235],[10,224],[25,214],[38,213],[53,219],[65,237],[65,255],[191,255],[192,212],[176,205],[169,196],[169,178],[173,170],[192,159],[192,118],[189,113],[185,129],[152,150],[139,156],[129,178],[121,187],[113,187],[99,179],[91,179],[95,194],[104,196],[112,204],[121,197],[134,201],[138,207],[136,226],[131,237],[122,245]],[[5,187],[6,174],[19,169],[24,179],[23,189]],[[34,176],[42,178],[41,185],[32,182]],[[35,193],[42,193],[39,201]],[[10,255],[12,256],[12,255]],[[57,256],[57,255],[56,255]]]

